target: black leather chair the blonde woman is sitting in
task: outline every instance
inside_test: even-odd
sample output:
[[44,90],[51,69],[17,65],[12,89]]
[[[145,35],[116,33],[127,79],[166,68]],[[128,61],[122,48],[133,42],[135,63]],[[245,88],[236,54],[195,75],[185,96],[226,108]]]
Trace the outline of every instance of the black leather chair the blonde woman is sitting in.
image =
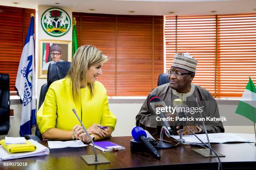
[[[67,75],[70,66],[71,66],[71,62],[67,62],[67,61],[52,62],[49,64],[48,72],[47,72],[47,83],[45,83],[41,87],[40,96],[38,99],[38,109],[43,104],[44,98],[46,96],[46,93],[47,93],[48,88],[51,85],[51,83],[56,80],[60,80],[60,79],[64,78]],[[24,137],[26,139],[33,139],[36,141],[40,141],[43,139],[42,135],[40,133],[40,130],[38,128],[38,125],[36,125],[36,134],[35,135],[25,135]]]

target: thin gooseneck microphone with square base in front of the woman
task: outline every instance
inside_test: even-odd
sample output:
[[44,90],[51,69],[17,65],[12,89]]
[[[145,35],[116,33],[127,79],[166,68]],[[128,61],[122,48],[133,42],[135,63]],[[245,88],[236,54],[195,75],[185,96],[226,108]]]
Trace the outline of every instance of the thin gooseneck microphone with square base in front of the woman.
[[109,160],[107,160],[103,155],[96,153],[96,148],[94,145],[94,142],[91,138],[91,136],[89,135],[89,133],[87,132],[86,128],[84,127],[84,124],[82,123],[82,121],[80,120],[80,118],[77,115],[77,112],[72,109],[72,111],[74,112],[74,114],[77,116],[77,119],[79,120],[79,122],[81,123],[82,127],[84,128],[84,132],[87,134],[87,136],[90,138],[90,140],[92,141],[92,146],[93,146],[93,151],[95,155],[81,155],[81,157],[83,158],[83,160],[88,164],[88,165],[97,165],[97,164],[103,164],[103,163],[110,163]]

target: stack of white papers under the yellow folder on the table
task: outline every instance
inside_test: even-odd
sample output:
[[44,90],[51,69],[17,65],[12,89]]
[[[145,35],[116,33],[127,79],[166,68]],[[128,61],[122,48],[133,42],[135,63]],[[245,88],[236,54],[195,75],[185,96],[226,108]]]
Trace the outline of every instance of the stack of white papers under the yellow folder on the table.
[[42,156],[48,155],[50,153],[49,148],[37,143],[33,139],[28,140],[30,143],[36,146],[36,150],[31,152],[21,152],[21,153],[8,153],[3,146],[0,145],[0,159],[1,160],[10,160],[10,159],[18,159],[32,156]]

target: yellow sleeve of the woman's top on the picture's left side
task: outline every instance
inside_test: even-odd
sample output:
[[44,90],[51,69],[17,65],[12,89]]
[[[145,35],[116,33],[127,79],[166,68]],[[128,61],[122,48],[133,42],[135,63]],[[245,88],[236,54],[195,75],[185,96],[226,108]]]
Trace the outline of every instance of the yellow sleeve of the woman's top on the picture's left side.
[[56,93],[52,86],[49,87],[44,103],[37,112],[38,128],[43,134],[46,130],[55,128],[57,118]]

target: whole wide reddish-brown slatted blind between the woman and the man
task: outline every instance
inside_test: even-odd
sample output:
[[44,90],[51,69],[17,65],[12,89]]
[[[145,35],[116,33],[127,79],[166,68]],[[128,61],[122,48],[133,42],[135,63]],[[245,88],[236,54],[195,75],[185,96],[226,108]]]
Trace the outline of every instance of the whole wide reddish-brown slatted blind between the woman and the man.
[[98,80],[109,96],[145,96],[164,70],[162,16],[73,13],[79,46],[90,44],[110,60]]

